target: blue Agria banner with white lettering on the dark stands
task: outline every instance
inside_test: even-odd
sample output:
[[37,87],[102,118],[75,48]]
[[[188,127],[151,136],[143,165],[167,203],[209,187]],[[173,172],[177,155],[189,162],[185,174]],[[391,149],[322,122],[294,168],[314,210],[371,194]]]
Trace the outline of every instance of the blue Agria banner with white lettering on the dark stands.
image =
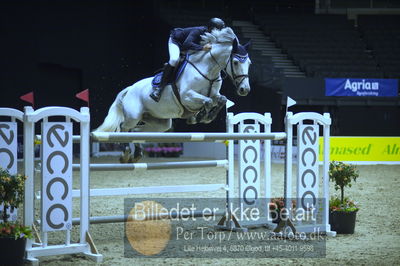
[[398,96],[397,79],[325,79],[325,96]]

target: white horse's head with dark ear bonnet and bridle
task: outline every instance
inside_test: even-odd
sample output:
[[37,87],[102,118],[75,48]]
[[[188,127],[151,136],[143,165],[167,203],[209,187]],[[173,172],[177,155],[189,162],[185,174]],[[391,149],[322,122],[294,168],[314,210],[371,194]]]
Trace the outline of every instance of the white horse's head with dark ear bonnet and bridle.
[[232,45],[232,53],[226,72],[232,79],[236,87],[236,93],[240,96],[246,96],[250,92],[249,67],[251,60],[247,52],[250,41],[241,45],[235,38]]

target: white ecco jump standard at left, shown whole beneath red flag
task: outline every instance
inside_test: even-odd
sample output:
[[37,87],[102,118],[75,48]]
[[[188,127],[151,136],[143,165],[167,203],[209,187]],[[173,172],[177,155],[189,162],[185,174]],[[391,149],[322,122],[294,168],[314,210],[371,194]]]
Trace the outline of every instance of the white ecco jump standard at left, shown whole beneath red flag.
[[[48,122],[50,116],[65,117],[66,122]],[[72,228],[72,122],[80,125],[80,220],[79,243],[71,243],[70,230]],[[35,124],[42,122],[42,189],[45,191],[41,198],[41,236],[42,243],[34,243],[31,239],[26,244],[26,259],[38,263],[37,257],[60,254],[83,253],[93,260],[100,262],[103,259],[91,242],[89,234],[89,109],[81,108],[81,112],[63,107],[45,107],[33,111],[25,107],[24,116],[24,163],[25,175],[25,203],[24,224],[32,226],[35,219],[34,202],[34,136]],[[61,133],[61,134],[60,134]],[[61,159],[61,161],[60,161]],[[57,163],[53,163],[57,162]],[[60,164],[61,163],[61,164]],[[60,165],[62,167],[60,167]],[[61,168],[61,169],[59,169]],[[53,186],[60,189],[54,190]],[[61,194],[60,194],[61,193]],[[62,211],[63,220],[55,217]],[[60,216],[60,215],[57,215]],[[54,219],[54,220],[53,220]],[[56,221],[57,220],[57,221]],[[65,242],[51,245],[47,241],[48,233],[65,231]]]

